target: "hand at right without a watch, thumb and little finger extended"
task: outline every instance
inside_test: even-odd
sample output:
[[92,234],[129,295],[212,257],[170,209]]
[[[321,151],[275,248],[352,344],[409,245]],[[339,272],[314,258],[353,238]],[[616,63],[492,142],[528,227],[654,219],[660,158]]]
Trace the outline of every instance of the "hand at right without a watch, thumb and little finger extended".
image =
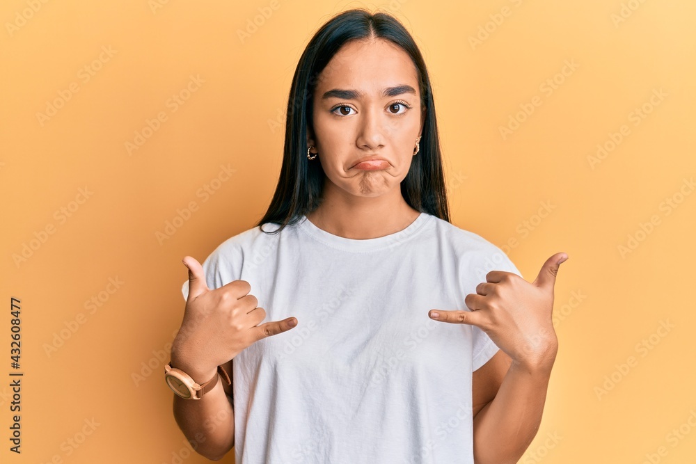
[[528,367],[553,365],[558,349],[552,319],[553,285],[566,259],[565,253],[546,259],[532,283],[511,272],[491,271],[487,282],[464,298],[471,311],[430,310],[428,315],[436,321],[477,326],[513,362]]

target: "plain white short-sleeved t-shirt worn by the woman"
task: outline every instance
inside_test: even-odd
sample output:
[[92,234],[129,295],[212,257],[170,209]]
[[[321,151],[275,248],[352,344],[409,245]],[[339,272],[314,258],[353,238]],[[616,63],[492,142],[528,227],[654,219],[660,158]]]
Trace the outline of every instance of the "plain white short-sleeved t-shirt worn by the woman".
[[428,311],[468,310],[491,270],[521,275],[500,248],[427,213],[365,240],[302,216],[227,239],[203,269],[209,289],[249,282],[264,322],[297,318],[232,362],[237,464],[473,464],[471,376],[498,346]]

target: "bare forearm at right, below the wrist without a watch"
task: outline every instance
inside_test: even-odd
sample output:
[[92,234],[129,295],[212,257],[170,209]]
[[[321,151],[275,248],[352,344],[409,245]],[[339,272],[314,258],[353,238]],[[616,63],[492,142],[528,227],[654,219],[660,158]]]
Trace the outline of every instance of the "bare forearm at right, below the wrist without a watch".
[[476,464],[515,464],[524,454],[539,430],[552,366],[512,362],[496,397],[473,419]]

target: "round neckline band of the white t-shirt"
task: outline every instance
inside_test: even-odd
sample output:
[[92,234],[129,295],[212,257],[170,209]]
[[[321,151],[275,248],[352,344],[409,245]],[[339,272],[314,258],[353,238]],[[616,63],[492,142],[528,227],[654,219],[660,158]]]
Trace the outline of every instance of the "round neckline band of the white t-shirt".
[[393,248],[400,243],[404,243],[422,230],[423,226],[429,222],[431,217],[430,214],[421,211],[418,217],[416,217],[411,224],[407,225],[406,228],[399,232],[394,232],[393,234],[388,234],[383,237],[376,237],[374,239],[347,239],[346,237],[331,234],[331,232],[326,232],[326,230],[317,227],[317,225],[310,221],[304,214],[299,221],[299,228],[332,248],[361,253],[379,250],[381,248]]

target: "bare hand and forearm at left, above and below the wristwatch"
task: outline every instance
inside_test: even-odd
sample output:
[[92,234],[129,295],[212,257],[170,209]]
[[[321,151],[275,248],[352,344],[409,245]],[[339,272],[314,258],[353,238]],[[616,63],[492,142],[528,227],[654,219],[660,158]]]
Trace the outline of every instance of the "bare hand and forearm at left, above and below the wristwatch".
[[[221,365],[232,377],[232,360],[260,339],[283,333],[297,325],[297,319],[261,323],[266,310],[249,293],[251,284],[233,280],[211,290],[203,266],[186,256],[189,294],[182,326],[174,338],[172,367],[182,369],[197,382],[205,382]],[[218,379],[201,399],[182,399],[174,394],[174,419],[191,447],[206,458],[218,461],[235,445],[235,412],[232,390]],[[224,386],[223,386],[224,385]],[[227,388],[226,388],[227,387]]]

